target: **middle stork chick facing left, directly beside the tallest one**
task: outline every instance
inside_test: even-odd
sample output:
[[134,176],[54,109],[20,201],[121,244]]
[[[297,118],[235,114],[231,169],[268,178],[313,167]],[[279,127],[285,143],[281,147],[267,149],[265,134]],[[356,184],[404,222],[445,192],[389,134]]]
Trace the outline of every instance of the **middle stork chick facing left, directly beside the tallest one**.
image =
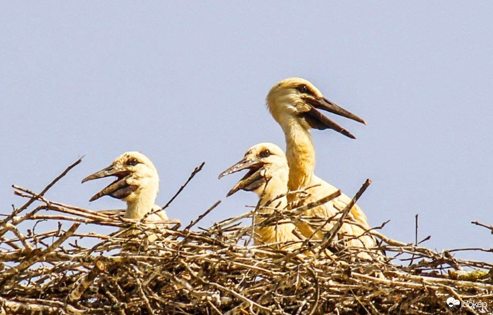
[[[219,178],[248,169],[248,173],[227,193],[227,197],[239,190],[253,191],[259,198],[259,214],[272,214],[275,209],[287,206],[287,180],[289,168],[286,156],[278,146],[271,143],[257,144],[245,153],[245,157],[219,175]],[[281,249],[293,250],[300,247],[303,236],[289,220],[272,222],[258,227],[265,217],[255,216],[255,245],[280,243]]]

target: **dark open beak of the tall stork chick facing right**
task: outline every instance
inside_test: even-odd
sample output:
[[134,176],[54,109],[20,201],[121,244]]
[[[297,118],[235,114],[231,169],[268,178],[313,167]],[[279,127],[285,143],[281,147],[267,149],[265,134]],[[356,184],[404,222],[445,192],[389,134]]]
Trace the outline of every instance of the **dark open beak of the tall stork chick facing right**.
[[340,107],[336,103],[329,101],[325,97],[321,99],[309,97],[309,98],[305,98],[305,101],[310,105],[311,108],[309,111],[302,113],[302,116],[306,119],[306,121],[308,122],[308,124],[310,124],[312,128],[318,130],[324,130],[330,128],[339,133],[342,133],[347,137],[356,139],[356,137],[352,135],[351,132],[339,126],[337,123],[326,117],[317,109],[326,110],[335,113],[336,115],[349,118],[366,125],[366,122],[361,118],[359,118],[358,116],[356,116],[354,113],[345,110],[344,108]]

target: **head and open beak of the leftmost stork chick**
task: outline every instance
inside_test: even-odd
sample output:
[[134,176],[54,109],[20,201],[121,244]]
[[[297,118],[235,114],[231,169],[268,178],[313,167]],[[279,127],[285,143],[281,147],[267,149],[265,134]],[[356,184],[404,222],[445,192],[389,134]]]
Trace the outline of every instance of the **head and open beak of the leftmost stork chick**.
[[109,176],[115,176],[117,179],[91,197],[89,201],[109,195],[127,203],[135,203],[144,194],[152,198],[154,202],[159,189],[159,176],[154,164],[142,153],[125,152],[108,167],[84,178],[82,183]]

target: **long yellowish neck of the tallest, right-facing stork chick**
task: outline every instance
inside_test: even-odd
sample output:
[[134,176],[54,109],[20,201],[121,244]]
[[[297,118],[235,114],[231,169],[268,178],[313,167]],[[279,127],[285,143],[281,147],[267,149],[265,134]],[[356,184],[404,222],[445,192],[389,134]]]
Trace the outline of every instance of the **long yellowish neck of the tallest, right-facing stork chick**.
[[289,165],[289,190],[308,186],[315,170],[315,148],[311,135],[301,124],[292,119],[283,124],[286,137],[286,158]]

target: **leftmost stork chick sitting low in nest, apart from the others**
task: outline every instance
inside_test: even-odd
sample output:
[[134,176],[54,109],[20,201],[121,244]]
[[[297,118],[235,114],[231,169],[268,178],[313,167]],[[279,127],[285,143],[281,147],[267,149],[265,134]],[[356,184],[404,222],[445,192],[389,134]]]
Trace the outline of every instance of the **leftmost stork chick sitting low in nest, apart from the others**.
[[155,204],[159,190],[159,176],[151,160],[140,152],[125,152],[108,167],[89,175],[82,183],[115,176],[117,179],[89,199],[95,201],[108,195],[127,203],[124,218],[140,220],[149,212],[156,212],[146,222],[168,220],[161,207]]

